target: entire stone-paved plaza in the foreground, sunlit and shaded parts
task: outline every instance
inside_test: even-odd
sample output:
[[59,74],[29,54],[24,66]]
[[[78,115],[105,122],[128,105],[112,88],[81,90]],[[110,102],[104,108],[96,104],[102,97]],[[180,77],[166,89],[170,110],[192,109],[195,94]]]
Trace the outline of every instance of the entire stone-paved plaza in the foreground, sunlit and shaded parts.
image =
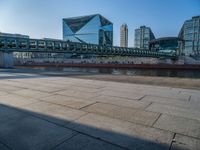
[[200,150],[200,91],[0,72],[0,150]]

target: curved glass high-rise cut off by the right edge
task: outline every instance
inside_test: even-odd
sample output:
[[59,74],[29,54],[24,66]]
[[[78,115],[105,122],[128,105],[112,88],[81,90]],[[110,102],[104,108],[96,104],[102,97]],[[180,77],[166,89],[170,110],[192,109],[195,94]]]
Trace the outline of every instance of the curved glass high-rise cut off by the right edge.
[[186,20],[179,33],[181,55],[200,55],[200,16]]

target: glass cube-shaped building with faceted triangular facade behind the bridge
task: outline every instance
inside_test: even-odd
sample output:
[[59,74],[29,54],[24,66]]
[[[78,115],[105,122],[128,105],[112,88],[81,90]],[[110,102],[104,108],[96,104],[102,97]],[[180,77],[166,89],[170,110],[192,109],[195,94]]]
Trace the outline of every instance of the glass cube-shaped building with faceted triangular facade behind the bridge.
[[100,14],[63,19],[63,40],[113,45],[113,23]]

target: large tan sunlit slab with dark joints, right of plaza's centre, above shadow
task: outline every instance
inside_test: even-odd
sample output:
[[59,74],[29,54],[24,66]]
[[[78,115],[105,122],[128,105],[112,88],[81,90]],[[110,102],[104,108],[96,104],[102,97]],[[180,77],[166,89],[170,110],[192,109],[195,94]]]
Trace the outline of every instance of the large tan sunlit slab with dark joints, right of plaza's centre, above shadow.
[[152,126],[160,115],[159,113],[120,107],[105,103],[95,103],[88,107],[84,107],[81,110],[148,126]]

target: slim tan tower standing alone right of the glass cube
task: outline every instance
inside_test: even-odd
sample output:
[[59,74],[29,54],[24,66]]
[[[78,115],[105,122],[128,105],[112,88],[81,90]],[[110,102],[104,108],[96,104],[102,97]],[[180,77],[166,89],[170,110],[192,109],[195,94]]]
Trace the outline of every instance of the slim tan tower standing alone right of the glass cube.
[[127,24],[123,24],[120,27],[120,46],[128,47],[128,26],[127,26]]

